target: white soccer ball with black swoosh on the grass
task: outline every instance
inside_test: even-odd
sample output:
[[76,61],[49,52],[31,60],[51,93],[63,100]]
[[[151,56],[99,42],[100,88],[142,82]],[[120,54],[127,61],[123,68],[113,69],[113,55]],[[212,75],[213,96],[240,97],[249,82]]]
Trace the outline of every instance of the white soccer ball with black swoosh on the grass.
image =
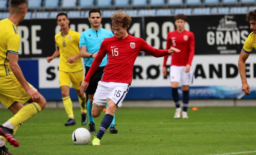
[[73,132],[72,140],[76,145],[88,144],[91,140],[91,133],[85,128],[78,128]]

